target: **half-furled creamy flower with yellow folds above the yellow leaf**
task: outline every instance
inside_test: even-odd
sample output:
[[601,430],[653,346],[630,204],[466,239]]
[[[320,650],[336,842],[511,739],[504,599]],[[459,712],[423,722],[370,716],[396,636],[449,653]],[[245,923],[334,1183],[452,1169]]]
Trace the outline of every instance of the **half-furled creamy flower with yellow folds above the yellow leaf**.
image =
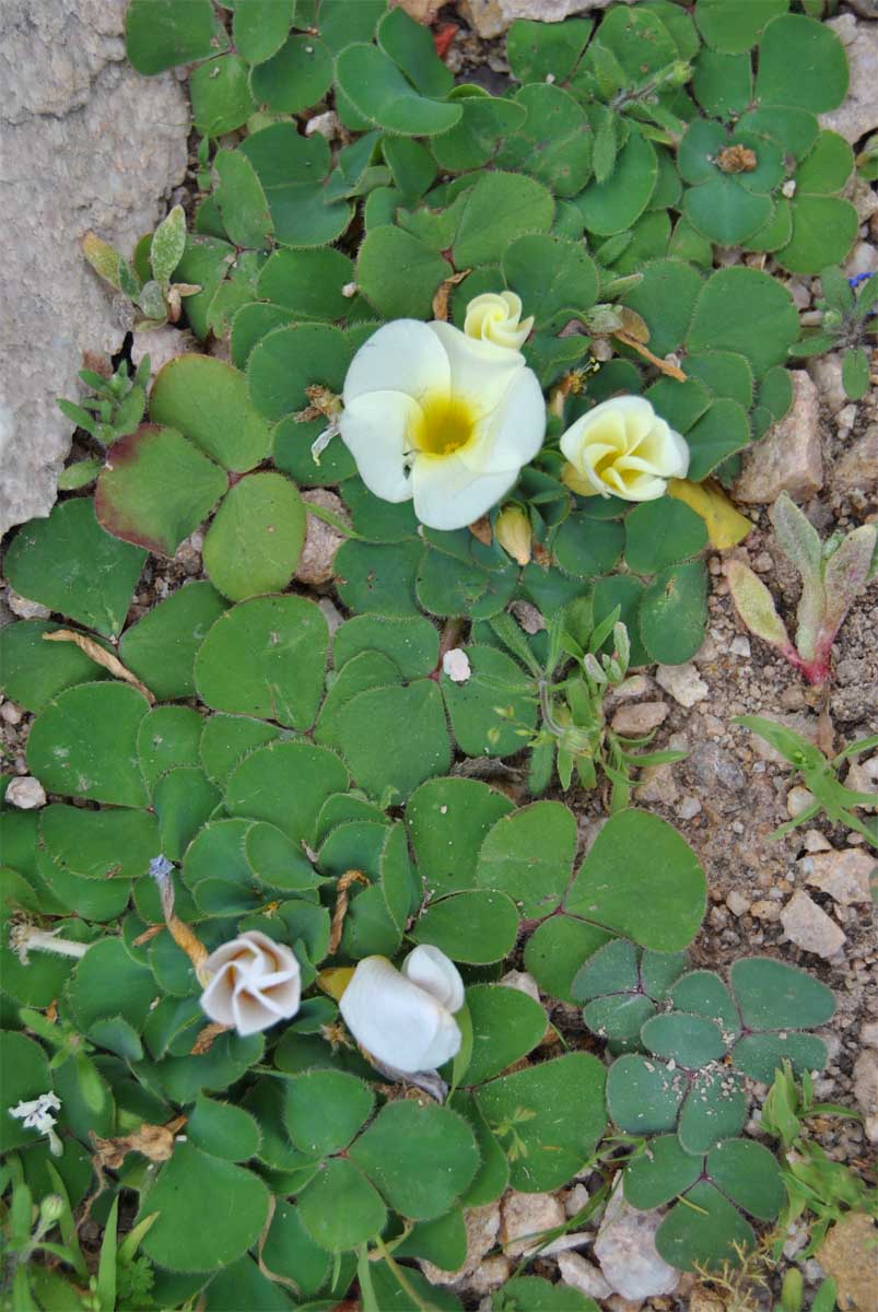
[[580,496],[654,501],[684,479],[689,447],[643,396],[614,396],[581,415],[560,440],[562,478]]

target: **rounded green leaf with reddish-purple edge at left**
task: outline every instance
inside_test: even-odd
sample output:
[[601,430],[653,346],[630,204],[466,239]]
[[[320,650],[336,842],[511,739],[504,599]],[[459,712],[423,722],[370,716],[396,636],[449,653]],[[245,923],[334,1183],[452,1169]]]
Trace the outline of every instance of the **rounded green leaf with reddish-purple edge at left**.
[[227,487],[224,471],[185,437],[143,424],[108,451],[94,512],[114,537],[172,556]]

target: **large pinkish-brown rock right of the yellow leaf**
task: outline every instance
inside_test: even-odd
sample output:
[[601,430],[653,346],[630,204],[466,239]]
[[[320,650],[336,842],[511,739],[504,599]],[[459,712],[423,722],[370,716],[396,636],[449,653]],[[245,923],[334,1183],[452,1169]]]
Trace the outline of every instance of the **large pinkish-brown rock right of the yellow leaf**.
[[776,501],[781,492],[802,501],[823,487],[820,398],[803,369],[793,370],[790,378],[790,412],[745,453],[734,488],[736,501],[766,505]]

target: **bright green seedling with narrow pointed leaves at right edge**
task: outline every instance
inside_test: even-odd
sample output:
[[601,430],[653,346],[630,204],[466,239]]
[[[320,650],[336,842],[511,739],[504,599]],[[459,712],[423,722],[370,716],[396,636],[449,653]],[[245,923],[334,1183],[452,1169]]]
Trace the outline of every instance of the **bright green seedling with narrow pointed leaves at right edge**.
[[844,783],[839,782],[839,770],[843,762],[852,756],[858,756],[861,752],[869,752],[871,748],[878,747],[878,735],[858,739],[844,748],[843,752],[839,752],[832,760],[828,760],[819,747],[808,743],[801,733],[795,733],[776,720],[766,720],[761,715],[739,715],[732,723],[743,724],[745,728],[752,729],[753,733],[759,733],[766,743],[770,743],[799,771],[805,787],[814,796],[814,802],[805,811],[799,811],[797,816],[774,830],[772,834],[773,838],[785,837],[793,829],[798,829],[822,811],[826,811],[827,817],[833,824],[843,824],[848,829],[854,829],[874,848],[878,848],[878,821],[874,819],[869,821],[861,820],[854,813],[854,807],[870,807],[875,804],[874,792],[854,792],[853,789],[848,789]]

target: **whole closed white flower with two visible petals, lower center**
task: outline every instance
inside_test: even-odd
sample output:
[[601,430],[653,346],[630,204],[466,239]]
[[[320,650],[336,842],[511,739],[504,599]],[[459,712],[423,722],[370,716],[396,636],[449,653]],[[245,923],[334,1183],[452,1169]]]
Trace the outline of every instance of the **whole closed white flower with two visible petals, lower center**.
[[398,971],[386,956],[358,963],[339,1010],[366,1052],[382,1065],[416,1075],[444,1065],[461,1048],[454,1013],[463,980],[438,947],[421,943]]

